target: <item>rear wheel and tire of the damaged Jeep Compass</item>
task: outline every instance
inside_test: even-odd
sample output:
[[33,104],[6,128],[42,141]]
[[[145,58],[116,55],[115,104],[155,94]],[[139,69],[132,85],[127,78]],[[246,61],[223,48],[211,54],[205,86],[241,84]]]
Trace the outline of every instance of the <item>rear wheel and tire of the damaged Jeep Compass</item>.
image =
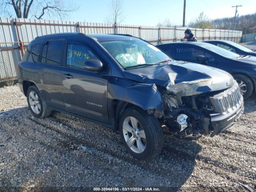
[[52,113],[52,110],[47,107],[46,101],[35,85],[28,88],[26,95],[28,107],[35,117],[45,118]]

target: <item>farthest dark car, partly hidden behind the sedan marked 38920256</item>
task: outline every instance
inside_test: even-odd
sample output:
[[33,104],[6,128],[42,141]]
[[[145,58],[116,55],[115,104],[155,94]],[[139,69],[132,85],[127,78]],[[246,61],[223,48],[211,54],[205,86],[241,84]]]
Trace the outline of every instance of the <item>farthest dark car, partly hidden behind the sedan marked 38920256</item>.
[[232,51],[232,52],[240,54],[240,55],[256,56],[256,50],[248,49],[248,48],[246,48],[240,44],[234,43],[232,41],[210,40],[210,41],[204,41],[204,42],[216,45],[218,47],[224,48],[226,50]]

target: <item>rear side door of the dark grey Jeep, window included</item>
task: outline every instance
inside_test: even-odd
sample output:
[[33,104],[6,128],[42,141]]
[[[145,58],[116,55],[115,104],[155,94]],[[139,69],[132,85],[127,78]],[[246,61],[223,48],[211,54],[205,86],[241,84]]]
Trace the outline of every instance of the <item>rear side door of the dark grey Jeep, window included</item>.
[[[62,97],[61,75],[64,39],[45,40],[41,43],[41,54],[34,69],[40,74],[38,88],[46,99],[48,106],[65,109]],[[33,56],[33,54],[32,54]]]

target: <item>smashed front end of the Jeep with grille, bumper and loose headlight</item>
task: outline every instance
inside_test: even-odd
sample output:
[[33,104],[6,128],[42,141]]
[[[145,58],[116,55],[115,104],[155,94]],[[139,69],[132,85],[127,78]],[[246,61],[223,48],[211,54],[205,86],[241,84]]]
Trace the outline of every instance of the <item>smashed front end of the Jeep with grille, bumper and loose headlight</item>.
[[166,86],[163,93],[164,115],[162,120],[172,132],[184,132],[186,136],[214,135],[230,128],[244,110],[239,86],[226,90],[198,92],[210,88],[210,80],[182,82]]

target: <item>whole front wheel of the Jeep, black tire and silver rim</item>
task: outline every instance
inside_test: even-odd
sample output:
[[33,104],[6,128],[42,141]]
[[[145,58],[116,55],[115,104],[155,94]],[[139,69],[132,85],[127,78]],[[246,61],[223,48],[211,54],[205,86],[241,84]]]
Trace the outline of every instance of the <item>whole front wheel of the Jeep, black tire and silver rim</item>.
[[162,151],[162,127],[157,118],[140,108],[128,108],[123,112],[119,131],[126,150],[139,160],[150,160]]

